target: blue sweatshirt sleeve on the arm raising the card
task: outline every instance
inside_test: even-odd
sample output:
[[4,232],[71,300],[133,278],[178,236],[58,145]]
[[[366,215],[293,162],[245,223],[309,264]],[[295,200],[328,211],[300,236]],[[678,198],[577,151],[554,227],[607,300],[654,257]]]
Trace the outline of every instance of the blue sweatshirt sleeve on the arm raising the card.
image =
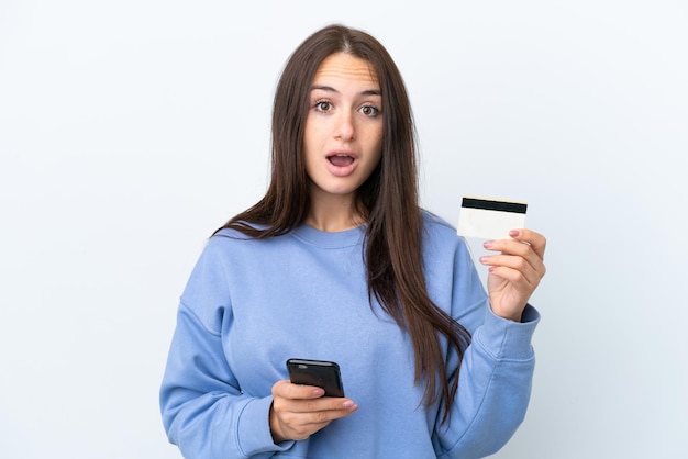
[[[531,338],[540,314],[528,305],[521,323],[497,316],[464,244],[455,257],[455,292],[475,292],[469,298],[481,300],[455,317],[473,339],[460,363],[451,421],[441,425],[437,417],[434,441],[443,459],[484,458],[497,452],[525,416],[535,365]],[[455,368],[455,354],[450,361]]]

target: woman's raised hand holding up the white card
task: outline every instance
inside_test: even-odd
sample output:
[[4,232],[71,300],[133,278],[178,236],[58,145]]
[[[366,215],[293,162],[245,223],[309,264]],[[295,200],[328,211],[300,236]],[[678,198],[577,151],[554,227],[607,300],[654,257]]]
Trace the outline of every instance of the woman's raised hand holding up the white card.
[[545,275],[546,239],[530,229],[512,229],[509,235],[512,239],[486,242],[486,249],[500,254],[480,257],[480,262],[489,266],[487,291],[495,314],[521,322],[528,300]]

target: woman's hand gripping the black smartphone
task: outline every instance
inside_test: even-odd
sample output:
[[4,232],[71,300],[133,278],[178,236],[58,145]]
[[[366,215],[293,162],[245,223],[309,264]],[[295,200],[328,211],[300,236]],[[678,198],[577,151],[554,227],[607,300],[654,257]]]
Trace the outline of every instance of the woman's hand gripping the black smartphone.
[[273,385],[270,432],[276,444],[303,440],[333,419],[348,416],[358,410],[353,400],[323,396],[325,391],[314,385],[293,384],[288,380]]

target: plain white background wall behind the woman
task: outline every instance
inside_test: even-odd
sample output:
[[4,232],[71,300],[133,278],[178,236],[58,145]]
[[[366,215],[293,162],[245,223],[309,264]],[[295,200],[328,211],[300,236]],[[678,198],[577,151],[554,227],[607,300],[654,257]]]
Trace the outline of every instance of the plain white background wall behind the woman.
[[0,457],[179,457],[178,295],[264,193],[279,71],[332,22],[404,75],[423,205],[524,200],[548,238],[533,398],[496,457],[688,457],[687,3],[448,5],[0,0]]

